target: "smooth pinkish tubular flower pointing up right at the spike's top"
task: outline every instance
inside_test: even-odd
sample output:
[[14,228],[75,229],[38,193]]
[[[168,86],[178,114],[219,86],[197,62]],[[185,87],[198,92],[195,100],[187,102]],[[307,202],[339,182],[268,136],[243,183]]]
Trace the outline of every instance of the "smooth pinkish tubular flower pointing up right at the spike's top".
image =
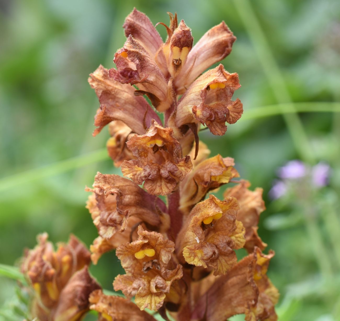
[[185,88],[207,68],[229,55],[235,40],[236,37],[224,21],[207,31],[193,46],[175,79],[177,94],[183,94]]

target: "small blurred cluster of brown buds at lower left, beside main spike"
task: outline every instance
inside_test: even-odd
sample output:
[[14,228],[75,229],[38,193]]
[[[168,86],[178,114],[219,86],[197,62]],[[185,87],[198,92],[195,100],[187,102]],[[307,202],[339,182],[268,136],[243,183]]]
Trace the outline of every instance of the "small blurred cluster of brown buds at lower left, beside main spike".
[[89,275],[90,253],[73,235],[56,252],[38,235],[38,245],[28,250],[21,271],[32,287],[31,316],[40,321],[77,321],[89,309],[88,297],[100,286]]

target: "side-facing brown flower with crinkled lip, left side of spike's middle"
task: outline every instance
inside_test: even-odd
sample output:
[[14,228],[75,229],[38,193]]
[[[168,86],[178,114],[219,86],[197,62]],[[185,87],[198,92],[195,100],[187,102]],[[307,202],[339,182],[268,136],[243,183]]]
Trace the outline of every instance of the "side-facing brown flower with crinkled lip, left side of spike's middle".
[[133,237],[136,224],[154,229],[167,228],[165,204],[138,185],[118,175],[97,173],[87,208],[98,229],[99,238],[90,247],[92,261]]

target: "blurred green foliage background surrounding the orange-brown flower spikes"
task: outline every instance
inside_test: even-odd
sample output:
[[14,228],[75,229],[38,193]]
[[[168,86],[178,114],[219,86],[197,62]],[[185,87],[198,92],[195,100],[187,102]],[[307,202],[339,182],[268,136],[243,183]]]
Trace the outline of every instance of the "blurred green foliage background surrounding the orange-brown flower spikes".
[[[339,220],[340,190],[338,0],[1,0],[0,262],[15,264],[43,231],[53,242],[71,232],[87,246],[96,238],[84,187],[97,171],[119,170],[104,149],[108,132],[91,135],[99,104],[87,77],[99,64],[114,67],[134,6],[154,24],[177,12],[196,41],[221,20],[237,36],[222,63],[239,74],[234,97],[244,114],[225,136],[204,131],[200,138],[212,155],[234,157],[241,177],[264,189],[259,234],[276,251],[269,276],[281,293],[279,320],[340,320],[340,230],[331,221]],[[165,37],[165,28],[157,29]],[[292,106],[303,112],[280,115]],[[276,169],[290,159],[332,168],[330,185],[304,200],[316,209],[312,225],[296,193],[268,199]],[[111,290],[121,267],[111,252],[91,271]],[[0,278],[1,313],[14,288]]]

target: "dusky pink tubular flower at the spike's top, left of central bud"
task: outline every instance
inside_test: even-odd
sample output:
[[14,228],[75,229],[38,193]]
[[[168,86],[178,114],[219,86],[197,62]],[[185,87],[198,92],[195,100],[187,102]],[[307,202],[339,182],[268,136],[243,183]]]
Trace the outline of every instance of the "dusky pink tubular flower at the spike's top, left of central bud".
[[123,28],[125,36],[132,35],[142,44],[151,57],[154,57],[163,45],[163,40],[149,17],[136,8],[125,18]]

